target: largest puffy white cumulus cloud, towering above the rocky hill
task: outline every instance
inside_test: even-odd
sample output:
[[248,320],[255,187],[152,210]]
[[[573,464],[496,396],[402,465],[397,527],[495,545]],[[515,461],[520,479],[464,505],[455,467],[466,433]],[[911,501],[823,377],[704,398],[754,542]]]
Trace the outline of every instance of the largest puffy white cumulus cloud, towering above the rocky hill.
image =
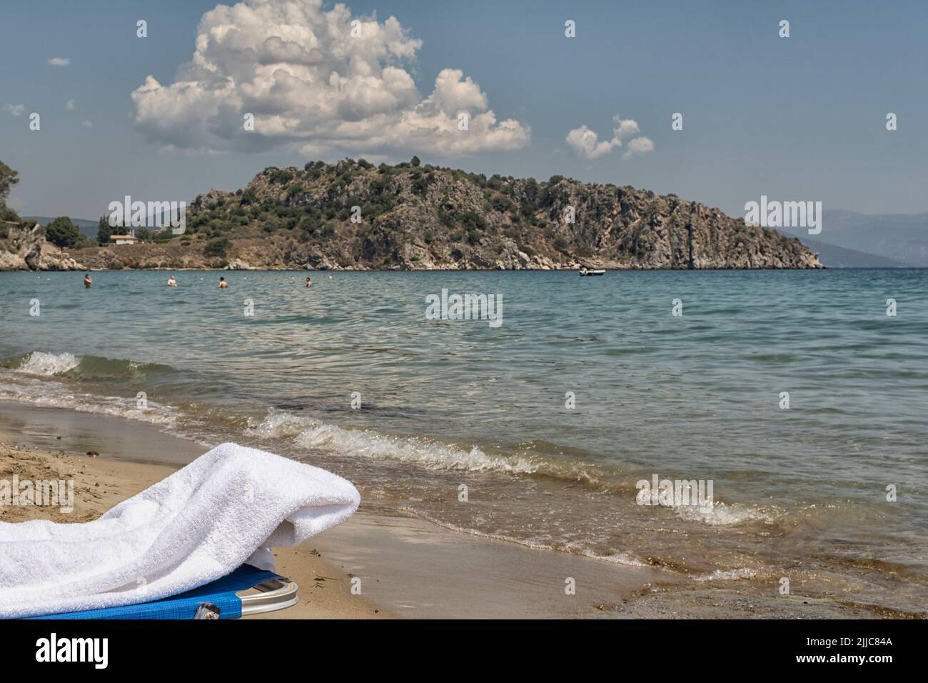
[[528,127],[497,121],[463,72],[442,70],[423,98],[406,70],[421,45],[393,17],[324,11],[321,0],[220,5],[200,18],[193,59],[174,82],[149,75],[132,93],[135,126],[166,147],[204,151],[468,154],[528,144]]

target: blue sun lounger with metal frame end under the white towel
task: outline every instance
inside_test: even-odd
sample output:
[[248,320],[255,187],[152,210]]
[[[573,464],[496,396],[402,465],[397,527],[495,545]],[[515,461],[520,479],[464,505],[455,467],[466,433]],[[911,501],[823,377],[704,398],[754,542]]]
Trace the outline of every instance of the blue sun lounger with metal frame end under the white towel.
[[[238,595],[252,588],[257,592]],[[221,579],[171,598],[33,619],[238,619],[292,607],[297,603],[297,588],[290,579],[273,571],[243,564]]]

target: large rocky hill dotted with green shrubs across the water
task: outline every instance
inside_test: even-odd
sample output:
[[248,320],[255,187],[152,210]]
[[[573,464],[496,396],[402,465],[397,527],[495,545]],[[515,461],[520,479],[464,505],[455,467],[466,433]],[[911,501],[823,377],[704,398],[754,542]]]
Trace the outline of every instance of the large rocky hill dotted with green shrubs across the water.
[[243,190],[197,197],[187,232],[169,243],[72,256],[93,269],[822,267],[798,239],[676,195],[487,178],[416,158],[265,168]]

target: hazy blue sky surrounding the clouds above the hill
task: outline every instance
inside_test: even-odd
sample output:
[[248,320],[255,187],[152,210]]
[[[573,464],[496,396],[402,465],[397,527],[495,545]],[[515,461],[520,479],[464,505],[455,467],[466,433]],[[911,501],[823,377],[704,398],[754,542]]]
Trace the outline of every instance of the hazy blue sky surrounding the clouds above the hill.
[[[403,64],[416,101],[430,96],[440,72],[460,70],[479,85],[496,124],[514,119],[527,138],[471,153],[422,151],[415,141],[404,149],[396,138],[342,149],[331,136],[315,154],[292,140],[257,151],[166,151],[159,136],[196,115],[176,112],[165,133],[157,117],[166,86],[192,58],[200,17],[215,6],[0,5],[0,160],[19,170],[11,204],[20,213],[95,218],[125,194],[188,201],[243,187],[268,165],[413,153],[487,175],[561,174],[674,192],[736,216],[762,194],[821,201],[826,210],[928,211],[928,3],[350,2],[353,15],[394,16],[421,41]],[[147,39],[135,36],[139,19],[148,21]],[[778,36],[784,19],[789,38]],[[565,20],[576,22],[574,39],[564,37]],[[52,58],[70,64],[51,66]],[[140,124],[131,94],[148,75],[165,89]],[[30,112],[41,114],[40,131],[29,130]],[[674,112],[683,113],[682,131],[671,130]],[[898,117],[895,132],[885,129],[887,112]],[[599,141],[612,138],[616,115],[637,122],[653,150],[623,158],[626,138],[590,159],[565,142],[583,125]],[[303,141],[316,139],[315,126],[303,123]]]

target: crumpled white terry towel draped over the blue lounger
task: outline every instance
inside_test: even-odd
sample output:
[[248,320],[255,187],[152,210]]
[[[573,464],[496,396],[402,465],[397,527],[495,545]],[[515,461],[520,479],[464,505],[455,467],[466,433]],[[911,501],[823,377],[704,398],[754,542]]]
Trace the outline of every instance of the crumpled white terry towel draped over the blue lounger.
[[0,522],[0,618],[165,598],[241,564],[274,571],[268,548],[351,517],[351,482],[224,443],[82,524]]

